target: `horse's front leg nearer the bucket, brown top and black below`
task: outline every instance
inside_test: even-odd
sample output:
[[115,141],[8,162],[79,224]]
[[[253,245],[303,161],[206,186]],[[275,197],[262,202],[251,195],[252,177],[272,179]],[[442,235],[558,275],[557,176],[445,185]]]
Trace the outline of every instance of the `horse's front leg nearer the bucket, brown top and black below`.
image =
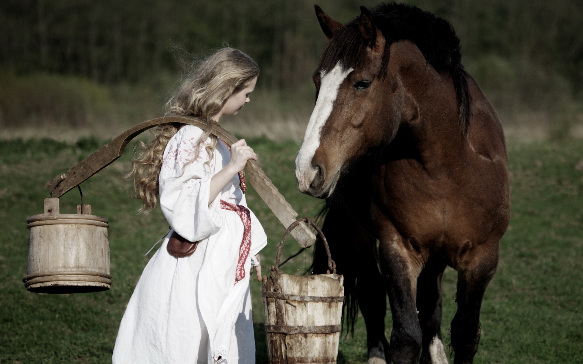
[[395,364],[416,363],[422,348],[416,291],[423,261],[411,242],[388,221],[381,232],[379,263],[393,317],[391,359]]

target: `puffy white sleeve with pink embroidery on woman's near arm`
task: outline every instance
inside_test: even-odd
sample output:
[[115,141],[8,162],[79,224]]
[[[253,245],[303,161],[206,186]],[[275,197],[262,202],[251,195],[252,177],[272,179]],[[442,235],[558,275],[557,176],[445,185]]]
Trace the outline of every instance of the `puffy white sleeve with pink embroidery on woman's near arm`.
[[202,135],[196,126],[183,126],[168,141],[160,168],[160,207],[166,220],[179,235],[188,241],[200,241],[223,224],[219,200],[209,206],[210,179],[215,157],[209,155]]

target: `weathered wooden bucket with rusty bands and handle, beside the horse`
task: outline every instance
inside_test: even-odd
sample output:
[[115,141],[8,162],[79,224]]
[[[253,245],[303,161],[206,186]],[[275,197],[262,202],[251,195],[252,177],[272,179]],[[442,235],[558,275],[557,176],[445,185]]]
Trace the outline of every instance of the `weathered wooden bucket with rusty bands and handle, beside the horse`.
[[[287,235],[300,222],[317,231],[328,253],[328,274],[279,273],[279,260]],[[330,273],[332,271],[332,273]],[[338,358],[344,277],[336,274],[328,242],[309,218],[293,222],[279,244],[271,277],[264,276],[261,296],[270,364],[333,364]]]

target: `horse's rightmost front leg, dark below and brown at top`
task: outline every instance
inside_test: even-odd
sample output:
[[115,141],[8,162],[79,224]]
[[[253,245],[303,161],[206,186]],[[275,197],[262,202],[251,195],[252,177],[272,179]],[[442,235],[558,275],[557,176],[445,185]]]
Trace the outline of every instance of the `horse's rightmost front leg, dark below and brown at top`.
[[460,257],[456,302],[458,310],[451,321],[454,364],[471,364],[480,342],[480,307],[487,285],[498,266],[498,242],[484,243]]

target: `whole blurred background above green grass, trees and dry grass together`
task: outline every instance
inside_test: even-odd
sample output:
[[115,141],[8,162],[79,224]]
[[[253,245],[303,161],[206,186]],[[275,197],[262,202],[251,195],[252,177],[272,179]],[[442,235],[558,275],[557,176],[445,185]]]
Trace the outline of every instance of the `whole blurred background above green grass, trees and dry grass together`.
[[[583,2],[408,1],[449,20],[462,61],[522,137],[581,133]],[[372,0],[322,0],[346,23]],[[0,3],[0,136],[113,137],[164,113],[184,68],[230,45],[260,68],[234,132],[301,140],[325,38],[305,0],[7,0]]]

